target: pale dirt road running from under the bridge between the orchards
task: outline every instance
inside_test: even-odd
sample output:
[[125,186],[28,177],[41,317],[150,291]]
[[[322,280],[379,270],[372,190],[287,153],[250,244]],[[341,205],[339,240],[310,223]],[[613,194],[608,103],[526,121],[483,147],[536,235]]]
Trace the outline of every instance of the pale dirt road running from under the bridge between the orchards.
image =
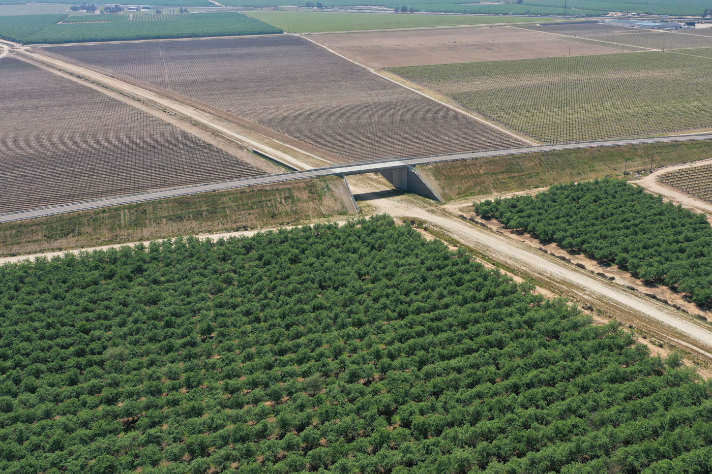
[[708,323],[524,243],[464,221],[426,199],[402,194],[384,197],[375,191],[377,186],[365,177],[348,177],[348,181],[357,200],[360,200],[359,205],[364,204],[370,211],[427,221],[483,256],[514,269],[520,276],[534,278],[543,288],[569,296],[576,302],[592,304],[609,317],[634,324],[656,337],[712,360],[712,326]]

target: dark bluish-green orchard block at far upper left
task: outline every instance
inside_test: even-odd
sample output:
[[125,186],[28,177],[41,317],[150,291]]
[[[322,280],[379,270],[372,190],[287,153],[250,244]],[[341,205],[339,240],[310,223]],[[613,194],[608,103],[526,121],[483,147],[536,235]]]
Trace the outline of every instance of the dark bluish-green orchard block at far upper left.
[[[282,33],[237,12],[199,14],[30,15],[0,17],[0,38],[19,43],[75,43]],[[86,23],[86,21],[95,23]],[[160,19],[160,21],[147,21]],[[61,21],[61,23],[59,23]]]

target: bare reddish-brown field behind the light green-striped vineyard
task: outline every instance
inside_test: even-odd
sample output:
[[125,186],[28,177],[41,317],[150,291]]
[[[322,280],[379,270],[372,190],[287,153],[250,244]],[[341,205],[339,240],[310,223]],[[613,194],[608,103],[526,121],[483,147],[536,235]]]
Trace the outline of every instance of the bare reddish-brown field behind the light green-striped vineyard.
[[561,36],[508,26],[311,35],[310,39],[368,68],[475,63],[619,53]]

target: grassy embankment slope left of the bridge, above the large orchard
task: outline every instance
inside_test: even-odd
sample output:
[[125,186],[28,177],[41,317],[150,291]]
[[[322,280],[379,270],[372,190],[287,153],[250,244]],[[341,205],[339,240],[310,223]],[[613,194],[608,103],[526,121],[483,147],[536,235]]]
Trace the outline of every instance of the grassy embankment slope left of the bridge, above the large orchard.
[[0,256],[236,231],[352,214],[345,183],[304,179],[0,224]]

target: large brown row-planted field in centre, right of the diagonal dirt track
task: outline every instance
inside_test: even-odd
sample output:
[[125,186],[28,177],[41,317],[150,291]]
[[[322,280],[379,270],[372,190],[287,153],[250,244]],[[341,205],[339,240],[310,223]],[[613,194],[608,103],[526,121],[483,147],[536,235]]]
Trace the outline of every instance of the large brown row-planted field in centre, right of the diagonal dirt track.
[[47,49],[218,107],[346,160],[521,144],[296,36]]

